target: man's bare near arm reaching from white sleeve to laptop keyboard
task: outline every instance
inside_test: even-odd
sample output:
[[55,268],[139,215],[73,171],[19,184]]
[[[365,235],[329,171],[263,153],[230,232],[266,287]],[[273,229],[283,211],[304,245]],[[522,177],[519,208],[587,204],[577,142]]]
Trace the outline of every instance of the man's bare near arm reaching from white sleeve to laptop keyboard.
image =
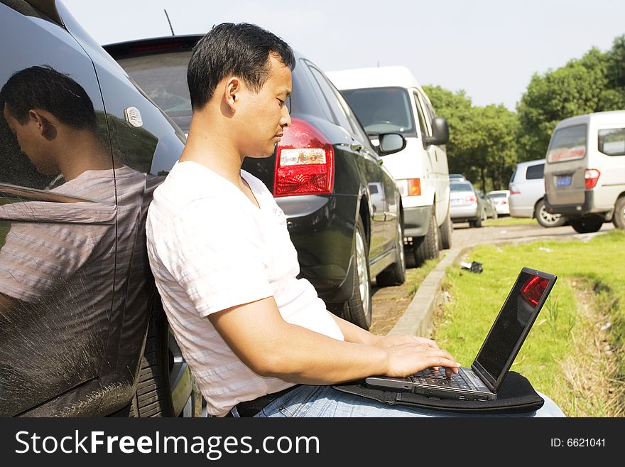
[[273,297],[212,313],[208,319],[251,370],[290,382],[332,384],[370,375],[401,377],[437,365],[460,366],[447,351],[422,343],[378,347],[375,338],[363,334],[367,331],[344,323],[339,326],[355,342],[287,323]]

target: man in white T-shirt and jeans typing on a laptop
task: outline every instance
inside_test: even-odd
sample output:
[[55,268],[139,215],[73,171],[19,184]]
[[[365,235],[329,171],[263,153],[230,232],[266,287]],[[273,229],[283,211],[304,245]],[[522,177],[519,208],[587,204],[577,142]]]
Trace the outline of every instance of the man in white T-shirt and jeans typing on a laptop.
[[289,126],[294,66],[284,41],[246,23],[215,26],[193,49],[188,141],[146,225],[170,326],[214,416],[420,416],[330,385],[460,364],[433,340],[374,336],[327,311],[296,278],[282,210],[241,171]]

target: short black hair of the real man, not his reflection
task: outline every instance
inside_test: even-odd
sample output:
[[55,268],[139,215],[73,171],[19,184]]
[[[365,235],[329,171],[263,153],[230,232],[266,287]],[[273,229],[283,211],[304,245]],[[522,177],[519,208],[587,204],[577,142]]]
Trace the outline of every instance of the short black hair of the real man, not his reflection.
[[290,70],[295,68],[293,50],[275,34],[249,23],[213,26],[197,41],[189,61],[187,82],[193,109],[202,109],[228,75],[241,77],[259,92],[269,75],[270,54]]

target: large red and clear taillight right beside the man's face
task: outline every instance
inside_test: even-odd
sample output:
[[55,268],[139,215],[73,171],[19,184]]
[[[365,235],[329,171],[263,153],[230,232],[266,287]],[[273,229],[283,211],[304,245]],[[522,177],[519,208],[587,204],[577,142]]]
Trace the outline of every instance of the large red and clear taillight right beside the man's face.
[[291,119],[290,127],[276,147],[274,196],[332,193],[335,181],[335,150],[312,124]]

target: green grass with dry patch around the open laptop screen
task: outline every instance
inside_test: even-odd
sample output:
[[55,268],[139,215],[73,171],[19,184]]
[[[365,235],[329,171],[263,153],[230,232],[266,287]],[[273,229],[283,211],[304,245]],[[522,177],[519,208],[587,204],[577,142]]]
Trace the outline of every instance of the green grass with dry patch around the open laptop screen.
[[452,299],[435,316],[439,345],[471,365],[521,267],[550,272],[558,281],[512,370],[568,416],[625,415],[625,232],[588,242],[480,245],[466,260],[481,262],[484,272],[447,269],[443,288]]

